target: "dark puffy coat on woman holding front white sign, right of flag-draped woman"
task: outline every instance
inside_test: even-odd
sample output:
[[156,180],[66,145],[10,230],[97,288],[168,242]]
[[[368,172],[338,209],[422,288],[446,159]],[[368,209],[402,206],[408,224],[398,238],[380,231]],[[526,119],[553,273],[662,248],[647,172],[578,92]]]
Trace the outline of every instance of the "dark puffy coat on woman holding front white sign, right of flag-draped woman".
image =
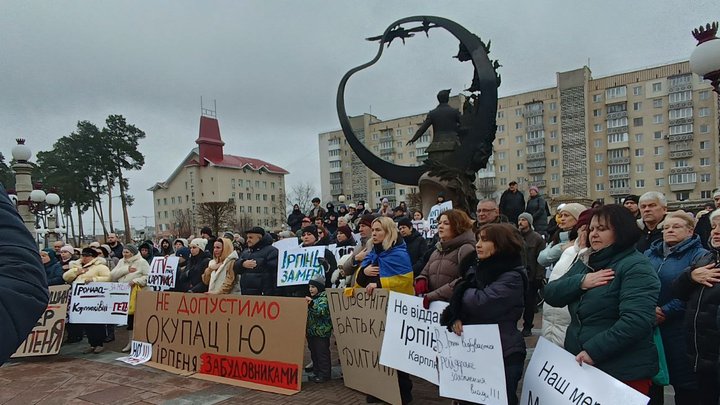
[[524,355],[525,339],[517,322],[525,309],[527,285],[527,274],[519,255],[478,260],[455,285],[440,324],[448,329],[458,319],[463,325],[497,324],[503,357],[515,353]]

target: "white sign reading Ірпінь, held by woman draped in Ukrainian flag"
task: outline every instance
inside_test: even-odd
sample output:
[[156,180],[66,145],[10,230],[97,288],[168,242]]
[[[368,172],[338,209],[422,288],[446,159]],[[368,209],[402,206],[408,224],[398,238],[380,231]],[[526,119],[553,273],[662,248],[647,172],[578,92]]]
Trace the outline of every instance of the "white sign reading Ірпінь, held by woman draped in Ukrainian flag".
[[434,301],[425,309],[422,302],[421,297],[390,292],[380,364],[437,385],[435,330],[442,328],[440,314],[448,304]]

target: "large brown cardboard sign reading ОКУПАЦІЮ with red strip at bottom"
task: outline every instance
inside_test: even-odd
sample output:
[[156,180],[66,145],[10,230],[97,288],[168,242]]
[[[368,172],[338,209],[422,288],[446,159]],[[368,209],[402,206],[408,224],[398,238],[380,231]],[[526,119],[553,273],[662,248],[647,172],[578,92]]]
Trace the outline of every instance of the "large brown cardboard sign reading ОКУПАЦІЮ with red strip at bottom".
[[224,384],[300,391],[307,303],[299,298],[140,291],[135,340],[147,365]]

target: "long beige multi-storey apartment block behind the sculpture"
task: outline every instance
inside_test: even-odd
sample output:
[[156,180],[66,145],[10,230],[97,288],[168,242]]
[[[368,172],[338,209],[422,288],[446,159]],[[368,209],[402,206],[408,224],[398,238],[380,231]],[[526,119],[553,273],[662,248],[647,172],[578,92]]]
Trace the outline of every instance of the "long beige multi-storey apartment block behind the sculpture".
[[[717,94],[691,73],[688,62],[601,78],[593,78],[588,67],[557,73],[554,87],[498,100],[494,154],[478,172],[478,196],[497,197],[517,181],[522,190],[535,185],[552,199],[610,203],[656,190],[674,206],[700,204],[719,185],[718,108]],[[390,121],[360,118],[358,131],[369,134],[366,144],[376,154],[399,164],[412,163],[411,151],[416,162],[424,159],[420,147],[427,144],[414,150],[404,146],[424,114]],[[391,144],[381,141],[382,134],[389,139],[384,126],[394,130]],[[335,155],[329,154],[330,142]],[[349,183],[338,181],[346,174],[366,184],[368,196],[392,194],[401,201],[409,192],[405,186],[384,188],[377,175],[345,166],[356,158],[340,131],[320,134],[321,166],[323,150],[330,163],[340,158],[339,164],[321,170],[326,199],[355,196]]]

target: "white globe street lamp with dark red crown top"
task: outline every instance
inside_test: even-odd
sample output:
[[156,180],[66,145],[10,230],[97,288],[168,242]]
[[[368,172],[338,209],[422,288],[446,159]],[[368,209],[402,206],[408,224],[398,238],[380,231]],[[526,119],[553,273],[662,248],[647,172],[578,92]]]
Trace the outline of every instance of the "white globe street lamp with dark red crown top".
[[705,80],[710,80],[713,90],[720,94],[720,38],[718,23],[707,24],[692,31],[698,44],[690,55],[690,69]]

